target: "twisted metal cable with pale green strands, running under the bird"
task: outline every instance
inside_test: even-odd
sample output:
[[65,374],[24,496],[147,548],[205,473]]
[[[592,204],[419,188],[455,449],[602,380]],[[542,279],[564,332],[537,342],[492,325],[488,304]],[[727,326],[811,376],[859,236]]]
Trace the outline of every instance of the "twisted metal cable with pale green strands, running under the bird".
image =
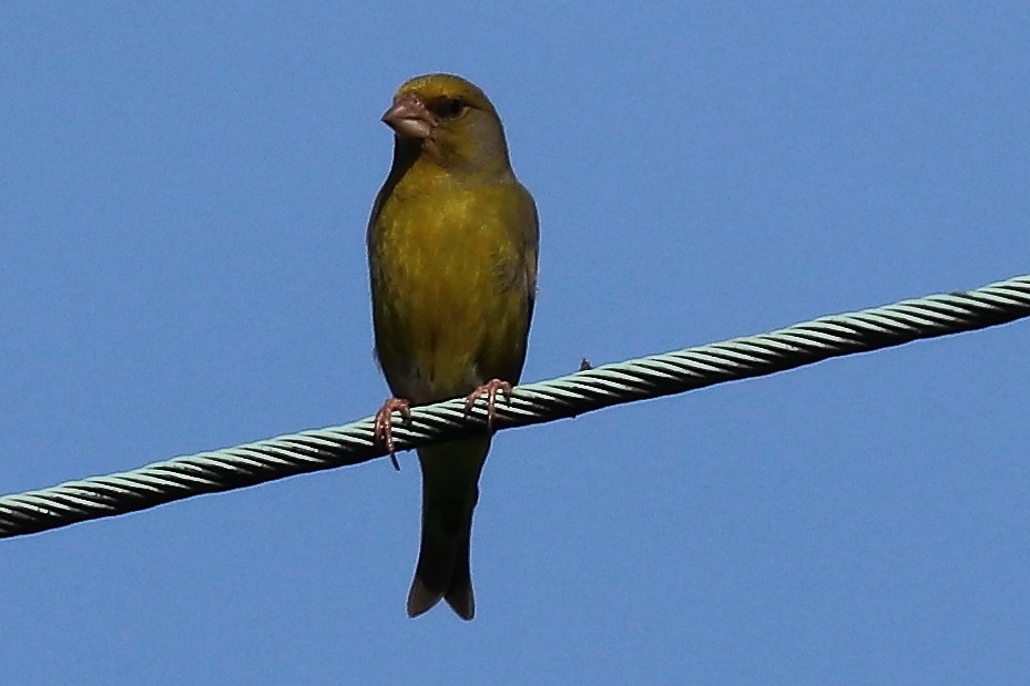
[[[932,295],[820,317],[768,334],[733,338],[564,377],[527,383],[497,407],[494,429],[524,427],[614,405],[656,398],[812,365],[830,357],[971,331],[1030,316],[1030,275],[976,290]],[[394,419],[398,450],[482,431],[486,410],[463,399],[414,408]],[[0,498],[0,537],[145,510],[386,454],[373,418],[235,448],[154,462],[139,469]]]

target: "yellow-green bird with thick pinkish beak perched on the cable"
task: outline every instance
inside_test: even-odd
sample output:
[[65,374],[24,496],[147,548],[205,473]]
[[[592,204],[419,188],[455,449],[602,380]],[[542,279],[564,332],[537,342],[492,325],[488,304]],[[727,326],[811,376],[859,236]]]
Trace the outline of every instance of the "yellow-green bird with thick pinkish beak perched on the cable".
[[[383,121],[394,164],[368,222],[376,354],[394,398],[377,416],[392,452],[390,416],[517,383],[537,291],[537,207],[511,171],[504,130],[479,88],[450,74],[406,82]],[[418,451],[422,542],[408,615],[441,598],[475,614],[469,544],[490,433]]]

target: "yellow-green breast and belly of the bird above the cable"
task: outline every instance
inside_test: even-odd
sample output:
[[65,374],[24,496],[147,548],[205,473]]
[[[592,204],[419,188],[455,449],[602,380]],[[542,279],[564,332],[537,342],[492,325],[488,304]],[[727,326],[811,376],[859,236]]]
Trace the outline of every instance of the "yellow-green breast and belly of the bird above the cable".
[[398,396],[431,402],[521,369],[527,298],[504,275],[522,257],[503,208],[486,199],[387,201],[374,218],[376,349]]

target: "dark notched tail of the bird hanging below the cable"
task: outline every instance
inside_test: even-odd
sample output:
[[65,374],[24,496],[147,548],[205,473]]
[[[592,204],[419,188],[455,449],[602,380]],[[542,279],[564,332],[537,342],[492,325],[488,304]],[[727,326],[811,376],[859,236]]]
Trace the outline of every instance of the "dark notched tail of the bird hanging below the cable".
[[490,437],[429,446],[418,451],[422,468],[422,543],[408,593],[408,616],[446,600],[462,620],[476,613],[469,545]]

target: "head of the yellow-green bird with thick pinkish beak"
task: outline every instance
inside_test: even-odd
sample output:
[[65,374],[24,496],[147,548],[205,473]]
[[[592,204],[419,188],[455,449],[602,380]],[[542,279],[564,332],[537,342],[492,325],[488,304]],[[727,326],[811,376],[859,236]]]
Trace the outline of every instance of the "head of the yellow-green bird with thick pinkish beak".
[[407,81],[383,121],[398,153],[447,174],[511,174],[504,129],[481,90],[460,76],[426,74]]

